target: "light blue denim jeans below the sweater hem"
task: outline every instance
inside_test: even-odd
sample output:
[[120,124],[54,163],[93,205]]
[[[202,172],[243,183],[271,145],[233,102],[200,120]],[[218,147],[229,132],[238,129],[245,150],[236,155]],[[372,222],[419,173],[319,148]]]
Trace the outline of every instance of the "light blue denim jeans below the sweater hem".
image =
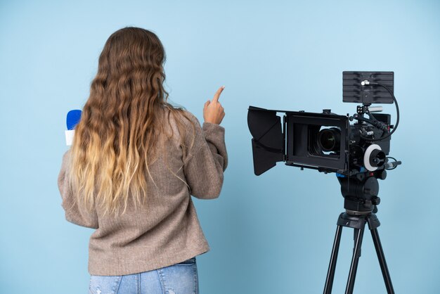
[[91,294],[199,294],[195,257],[170,267],[124,276],[91,276]]

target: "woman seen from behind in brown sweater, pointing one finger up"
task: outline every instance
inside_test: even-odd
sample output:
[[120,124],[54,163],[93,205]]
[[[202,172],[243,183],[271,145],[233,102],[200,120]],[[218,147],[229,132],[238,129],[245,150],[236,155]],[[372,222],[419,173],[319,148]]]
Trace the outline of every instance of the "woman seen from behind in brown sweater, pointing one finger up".
[[63,156],[69,222],[96,229],[89,293],[198,293],[195,256],[209,246],[190,198],[217,198],[227,165],[224,108],[205,122],[167,103],[164,48],[153,32],[113,33]]

